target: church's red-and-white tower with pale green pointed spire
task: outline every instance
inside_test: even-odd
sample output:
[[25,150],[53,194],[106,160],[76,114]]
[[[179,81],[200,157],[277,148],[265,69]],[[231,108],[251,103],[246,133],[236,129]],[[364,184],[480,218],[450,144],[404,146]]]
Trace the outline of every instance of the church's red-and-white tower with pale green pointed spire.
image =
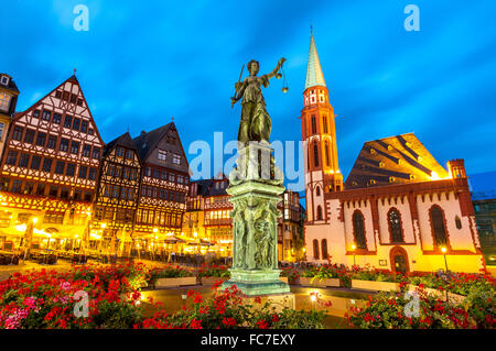
[[343,190],[343,175],[337,164],[334,109],[328,101],[328,90],[313,33],[310,37],[303,98],[301,125],[305,167],[306,220],[309,223],[319,224],[327,221],[324,194]]

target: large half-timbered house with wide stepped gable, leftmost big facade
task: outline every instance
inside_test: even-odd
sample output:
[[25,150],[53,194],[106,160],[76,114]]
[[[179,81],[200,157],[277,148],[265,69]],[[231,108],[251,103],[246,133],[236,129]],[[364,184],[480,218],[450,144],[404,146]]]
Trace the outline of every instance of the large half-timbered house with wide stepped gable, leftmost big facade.
[[36,218],[36,235],[79,240],[91,216],[103,146],[75,75],[15,113],[0,165],[2,231],[22,234]]

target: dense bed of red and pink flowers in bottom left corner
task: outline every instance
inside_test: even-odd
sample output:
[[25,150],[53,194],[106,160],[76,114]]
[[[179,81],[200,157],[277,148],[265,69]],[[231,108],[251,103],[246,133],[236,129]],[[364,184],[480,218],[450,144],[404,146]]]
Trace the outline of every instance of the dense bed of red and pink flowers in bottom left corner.
[[[15,273],[0,282],[0,328],[131,328],[141,319],[136,286],[147,273],[142,265],[88,265],[73,267],[68,273],[45,270]],[[76,296],[86,294],[87,317],[76,317],[79,300]]]

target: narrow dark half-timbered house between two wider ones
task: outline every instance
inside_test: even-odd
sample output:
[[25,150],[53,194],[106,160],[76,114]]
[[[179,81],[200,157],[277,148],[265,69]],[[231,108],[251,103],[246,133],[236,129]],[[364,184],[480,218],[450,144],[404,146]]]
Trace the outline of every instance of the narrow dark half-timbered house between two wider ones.
[[129,253],[138,207],[141,164],[129,133],[109,142],[101,158],[91,228],[100,230],[100,249]]

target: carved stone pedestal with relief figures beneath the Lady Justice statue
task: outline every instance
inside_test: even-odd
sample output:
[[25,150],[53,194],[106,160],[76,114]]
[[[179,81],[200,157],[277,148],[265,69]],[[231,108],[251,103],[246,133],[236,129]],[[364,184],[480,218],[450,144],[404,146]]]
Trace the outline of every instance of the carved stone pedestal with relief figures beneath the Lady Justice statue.
[[279,279],[277,206],[284,187],[271,152],[268,143],[250,143],[239,150],[237,167],[229,174],[233,268],[223,287],[236,285],[247,296],[290,292]]

